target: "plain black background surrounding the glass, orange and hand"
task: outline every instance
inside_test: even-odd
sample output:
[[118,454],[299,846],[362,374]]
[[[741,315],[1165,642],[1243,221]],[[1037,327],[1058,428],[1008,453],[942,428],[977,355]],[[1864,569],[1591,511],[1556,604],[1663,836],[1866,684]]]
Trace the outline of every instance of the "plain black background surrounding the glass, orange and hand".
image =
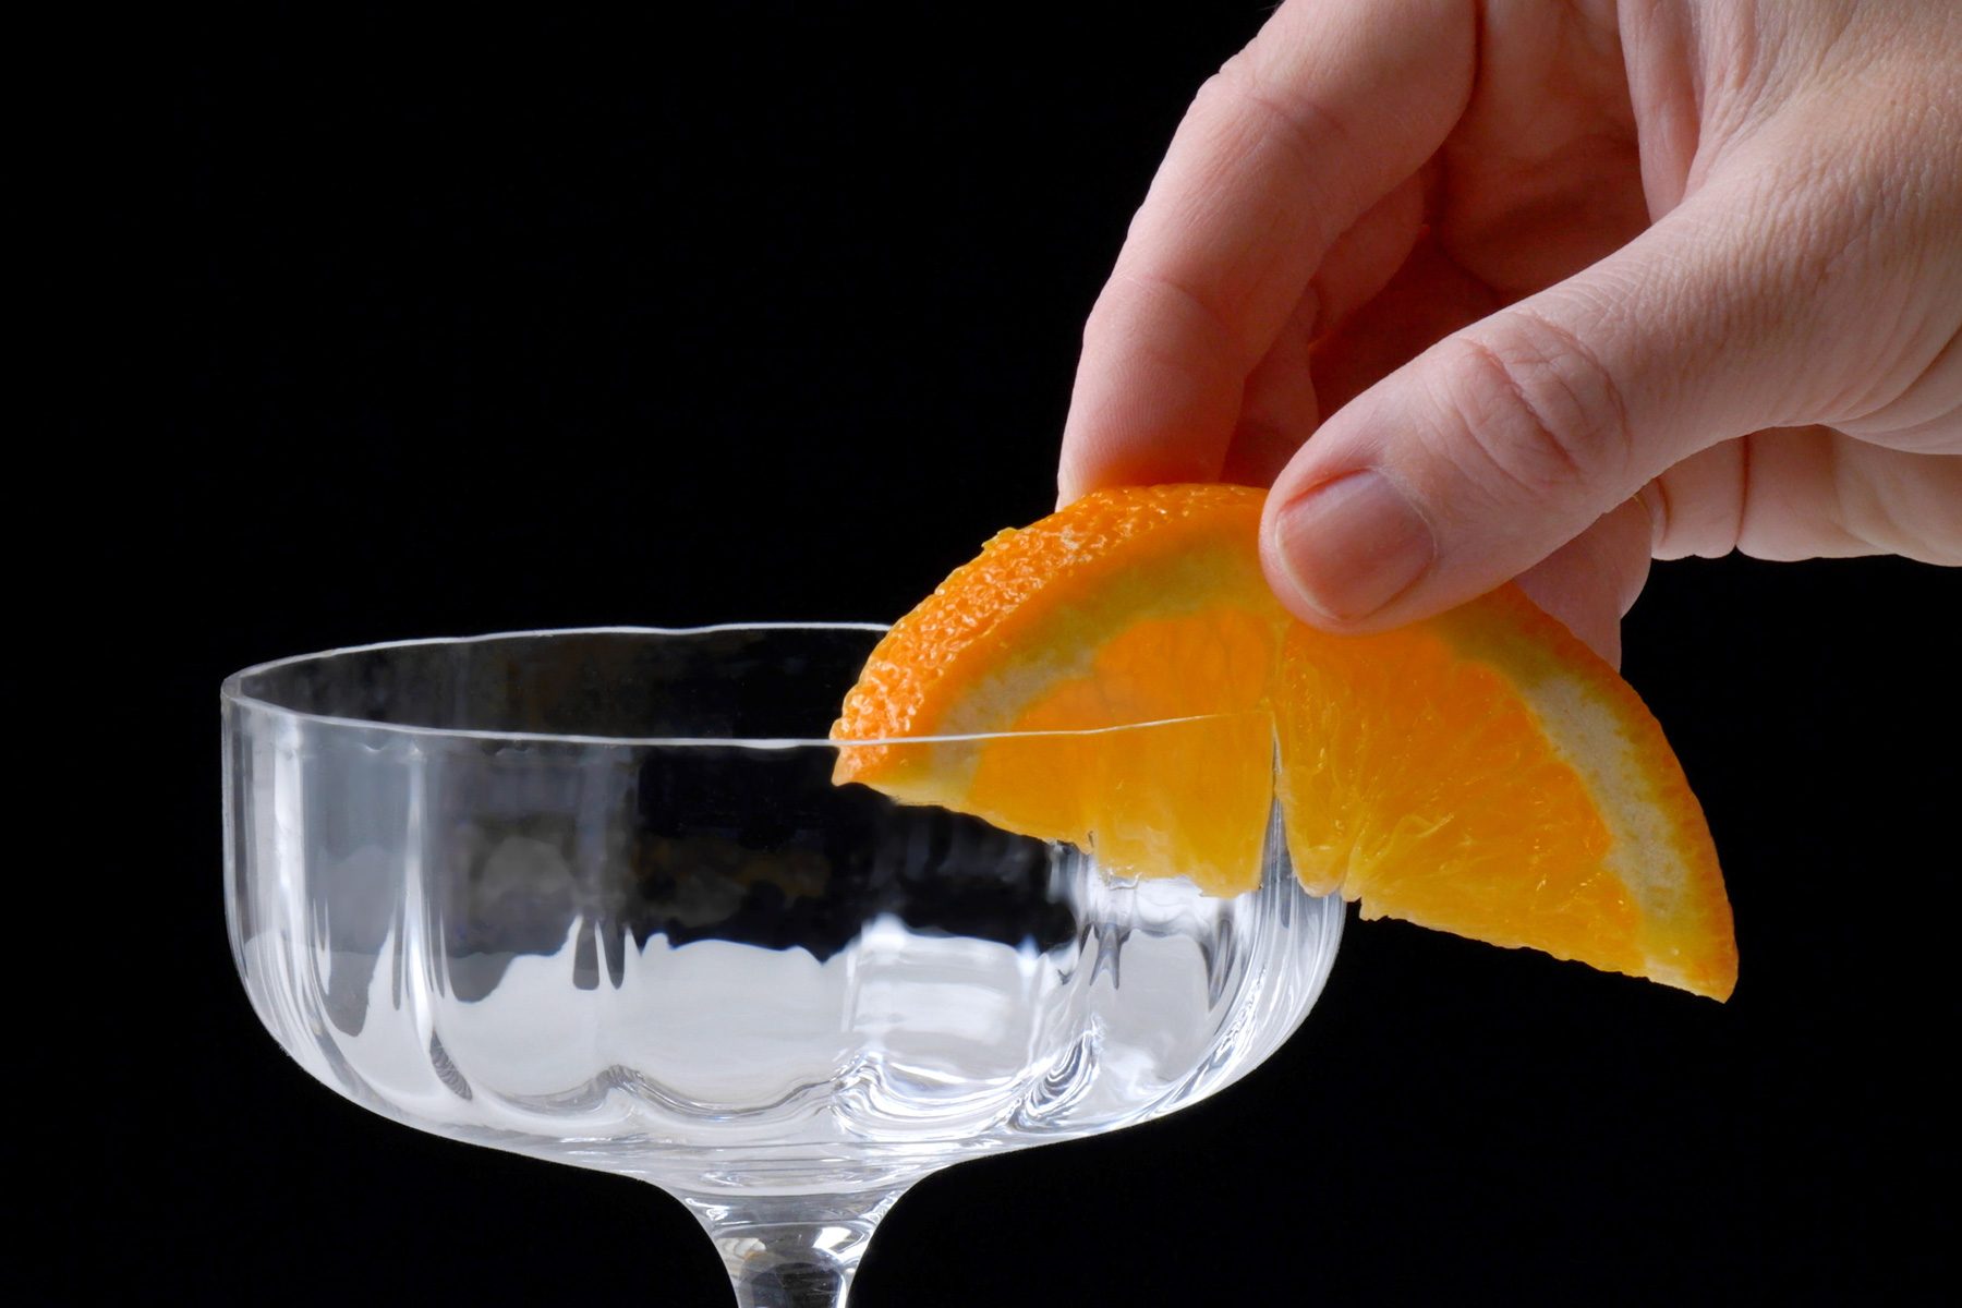
[[[14,1065],[43,1110],[14,1149],[59,1155],[16,1188],[47,1298],[724,1302],[673,1200],[392,1126],[279,1053],[224,939],[218,682],[406,635],[904,612],[1050,508],[1083,314],[1262,18],[320,8],[77,61],[78,512],[22,557],[78,653],[18,679],[90,690],[35,930],[94,988]],[[1687,561],[1630,616],[1725,857],[1730,1004],[1352,924],[1248,1082],[928,1179],[853,1302],[1833,1300],[1952,1269],[1923,1194],[1952,1179],[1956,580]]]

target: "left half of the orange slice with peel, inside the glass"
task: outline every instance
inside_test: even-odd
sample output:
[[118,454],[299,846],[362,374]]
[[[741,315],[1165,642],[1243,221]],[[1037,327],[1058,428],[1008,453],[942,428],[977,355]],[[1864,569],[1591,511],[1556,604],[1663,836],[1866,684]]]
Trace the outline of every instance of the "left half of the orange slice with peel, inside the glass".
[[[1118,877],[1256,886],[1281,631],[1244,549],[1260,504],[1134,492],[995,535],[873,651],[832,735],[883,743],[842,747],[836,779],[1083,845]],[[977,731],[1014,735],[895,739]]]

